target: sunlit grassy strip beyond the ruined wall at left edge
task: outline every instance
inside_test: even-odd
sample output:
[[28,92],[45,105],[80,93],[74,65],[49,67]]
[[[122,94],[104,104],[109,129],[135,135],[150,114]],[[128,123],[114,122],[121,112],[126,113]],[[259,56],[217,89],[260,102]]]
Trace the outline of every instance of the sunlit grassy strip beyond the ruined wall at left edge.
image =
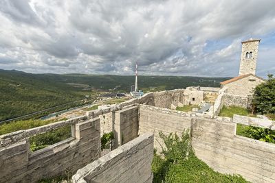
[[39,127],[54,123],[58,120],[41,120],[41,119],[29,119],[21,121],[11,121],[10,123],[3,123],[0,125],[0,135],[16,132],[18,130],[27,130],[34,127]]

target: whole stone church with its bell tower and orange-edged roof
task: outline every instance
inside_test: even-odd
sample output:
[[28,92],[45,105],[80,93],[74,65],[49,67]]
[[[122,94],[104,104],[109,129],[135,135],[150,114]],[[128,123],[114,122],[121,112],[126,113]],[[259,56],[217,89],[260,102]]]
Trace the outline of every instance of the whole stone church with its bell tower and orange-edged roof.
[[248,97],[258,84],[265,82],[261,77],[255,75],[258,57],[259,39],[250,39],[241,42],[241,63],[239,76],[221,82],[221,87],[228,88],[227,93]]

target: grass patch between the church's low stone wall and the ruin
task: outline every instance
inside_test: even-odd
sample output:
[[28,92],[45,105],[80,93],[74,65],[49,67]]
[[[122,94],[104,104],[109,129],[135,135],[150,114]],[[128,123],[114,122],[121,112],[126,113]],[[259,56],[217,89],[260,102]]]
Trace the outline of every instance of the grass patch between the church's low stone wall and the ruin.
[[239,114],[239,115],[248,116],[248,117],[255,117],[255,115],[252,114],[250,110],[246,108],[236,107],[236,106],[230,106],[230,107],[223,106],[223,108],[221,108],[221,111],[219,112],[220,117],[232,118],[234,114]]

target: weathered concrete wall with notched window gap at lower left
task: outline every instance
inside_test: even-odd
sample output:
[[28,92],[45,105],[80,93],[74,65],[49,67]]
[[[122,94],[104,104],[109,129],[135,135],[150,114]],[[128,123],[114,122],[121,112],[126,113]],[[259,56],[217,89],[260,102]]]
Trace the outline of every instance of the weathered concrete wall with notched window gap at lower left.
[[[45,127],[36,128],[36,132]],[[0,149],[0,182],[36,182],[76,172],[100,157],[100,121],[76,123],[72,138],[31,152],[28,138]],[[30,131],[30,130],[29,130]],[[34,131],[32,129],[32,131]]]

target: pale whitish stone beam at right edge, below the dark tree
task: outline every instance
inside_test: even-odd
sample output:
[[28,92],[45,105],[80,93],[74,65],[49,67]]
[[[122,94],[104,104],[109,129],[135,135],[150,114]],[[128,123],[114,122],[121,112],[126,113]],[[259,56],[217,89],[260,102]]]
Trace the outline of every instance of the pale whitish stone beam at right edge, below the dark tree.
[[234,114],[233,122],[239,123],[243,125],[252,125],[256,127],[265,127],[271,130],[275,130],[275,121],[269,119],[261,119],[261,118],[254,118],[254,117],[245,117]]

